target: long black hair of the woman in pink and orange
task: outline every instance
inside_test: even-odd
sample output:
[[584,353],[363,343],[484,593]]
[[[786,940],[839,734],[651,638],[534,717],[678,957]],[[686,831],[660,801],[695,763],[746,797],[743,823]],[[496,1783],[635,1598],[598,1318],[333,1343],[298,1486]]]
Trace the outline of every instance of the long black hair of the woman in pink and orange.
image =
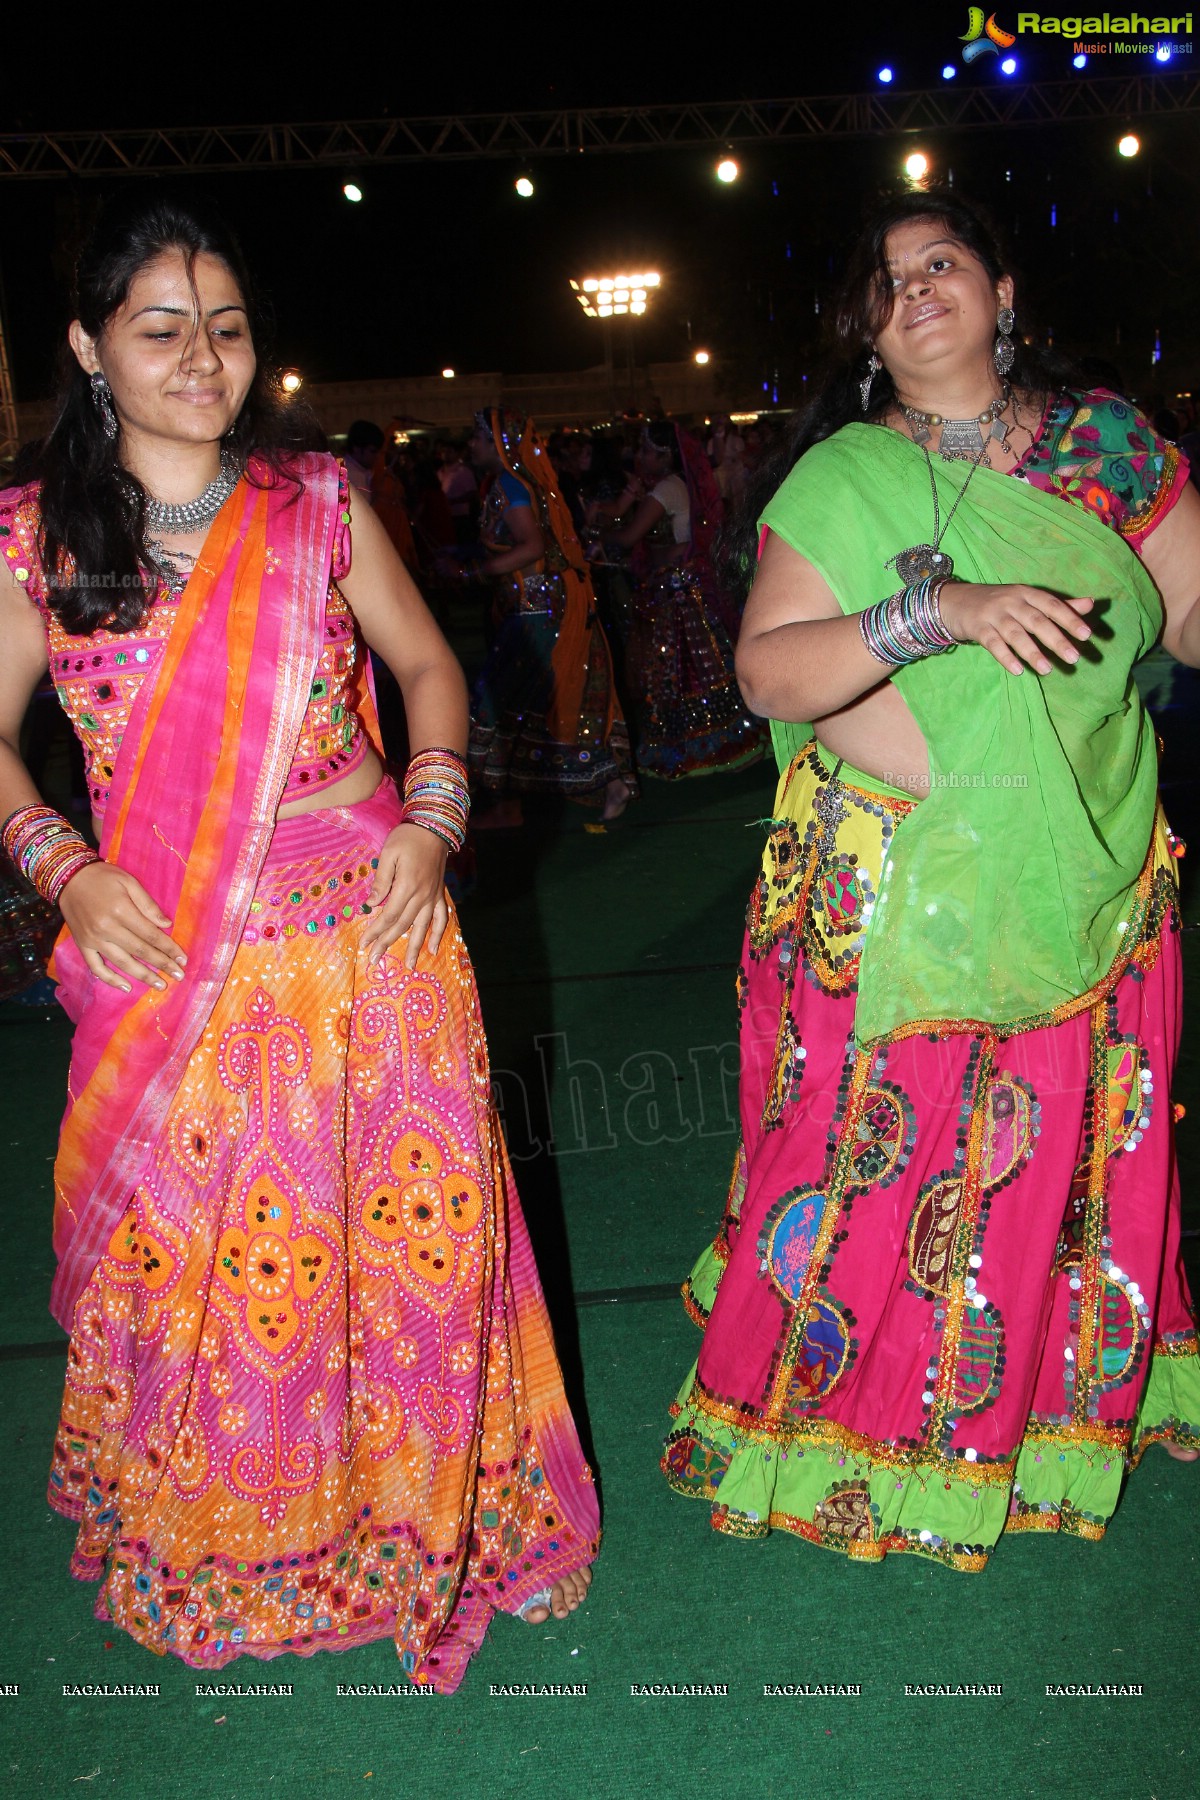
[[[286,459],[288,452],[309,446],[311,418],[284,400],[266,362],[263,306],[221,220],[157,194],[104,207],[76,263],[74,317],[88,337],[101,338],[133,279],[171,250],[184,254],[189,274],[198,256],[218,257],[237,283],[259,364],[227,443],[243,466],[255,454],[268,481],[293,481],[299,490]],[[40,553],[50,607],[76,637],[88,637],[101,625],[133,630],[155,592],[142,549],[146,490],[117,461],[117,443],[104,434],[90,378],[67,346],[58,418],[41,446],[40,468]]]

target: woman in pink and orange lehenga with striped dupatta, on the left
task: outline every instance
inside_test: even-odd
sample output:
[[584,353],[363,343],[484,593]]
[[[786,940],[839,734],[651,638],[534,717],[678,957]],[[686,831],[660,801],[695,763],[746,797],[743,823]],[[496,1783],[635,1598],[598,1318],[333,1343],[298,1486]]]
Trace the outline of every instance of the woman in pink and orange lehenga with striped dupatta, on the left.
[[[335,461],[288,452],[248,306],[219,229],[110,216],[43,481],[0,497],[4,844],[76,1021],[50,1503],[160,1654],[389,1636],[453,1690],[493,1611],[579,1606],[596,1492],[443,889],[462,677]],[[14,751],[47,661],[99,860]]]

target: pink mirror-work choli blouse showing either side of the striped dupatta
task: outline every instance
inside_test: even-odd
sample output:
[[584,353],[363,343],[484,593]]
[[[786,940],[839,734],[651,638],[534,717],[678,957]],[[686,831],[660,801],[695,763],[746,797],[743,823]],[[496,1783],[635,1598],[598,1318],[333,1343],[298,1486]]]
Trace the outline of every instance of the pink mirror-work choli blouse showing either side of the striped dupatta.
[[[351,700],[362,646],[354,617],[338,589],[338,581],[351,567],[347,493],[345,470],[340,468],[338,529],[329,567],[324,644],[281,805],[304,799],[313,788],[344,779],[367,754],[367,734]],[[83,745],[92,812],[103,817],[133,702],[162,659],[178,599],[173,601],[164,585],[135,630],[101,628],[90,637],[68,635],[49,605],[38,560],[38,524],[36,484],[0,495],[0,554],[45,623],[50,679]],[[270,547],[266,556],[270,560]]]

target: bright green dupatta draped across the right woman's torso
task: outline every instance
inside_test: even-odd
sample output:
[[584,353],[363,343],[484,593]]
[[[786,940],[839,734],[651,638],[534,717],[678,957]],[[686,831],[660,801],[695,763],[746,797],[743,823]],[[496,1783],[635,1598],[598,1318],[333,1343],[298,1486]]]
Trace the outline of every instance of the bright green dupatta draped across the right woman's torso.
[[[943,520],[970,466],[932,459]],[[846,425],[792,470],[763,515],[844,612],[896,590],[889,556],[930,542],[921,450]],[[1162,619],[1133,551],[1083,508],[981,468],[943,538],[966,581],[1092,596],[1096,648],[1040,677],[959,644],[892,677],[925,734],[932,788],[880,871],[855,1030],[923,1019],[1018,1030],[1112,967],[1150,846],[1155,742],[1132,670]]]

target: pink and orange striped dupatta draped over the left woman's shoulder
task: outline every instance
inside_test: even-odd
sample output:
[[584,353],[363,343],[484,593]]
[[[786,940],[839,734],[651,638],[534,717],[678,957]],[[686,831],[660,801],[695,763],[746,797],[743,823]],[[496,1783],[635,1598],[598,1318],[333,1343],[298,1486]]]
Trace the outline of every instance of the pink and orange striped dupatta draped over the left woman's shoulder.
[[333,457],[263,470],[218,513],[162,662],[133,704],[101,855],[146,887],[187,952],[184,981],[97,981],[68,932],[54,956],[76,1021],[54,1165],[50,1310],[76,1301],[115,1231],[228,976],[275,828],[320,653],[338,475]]

